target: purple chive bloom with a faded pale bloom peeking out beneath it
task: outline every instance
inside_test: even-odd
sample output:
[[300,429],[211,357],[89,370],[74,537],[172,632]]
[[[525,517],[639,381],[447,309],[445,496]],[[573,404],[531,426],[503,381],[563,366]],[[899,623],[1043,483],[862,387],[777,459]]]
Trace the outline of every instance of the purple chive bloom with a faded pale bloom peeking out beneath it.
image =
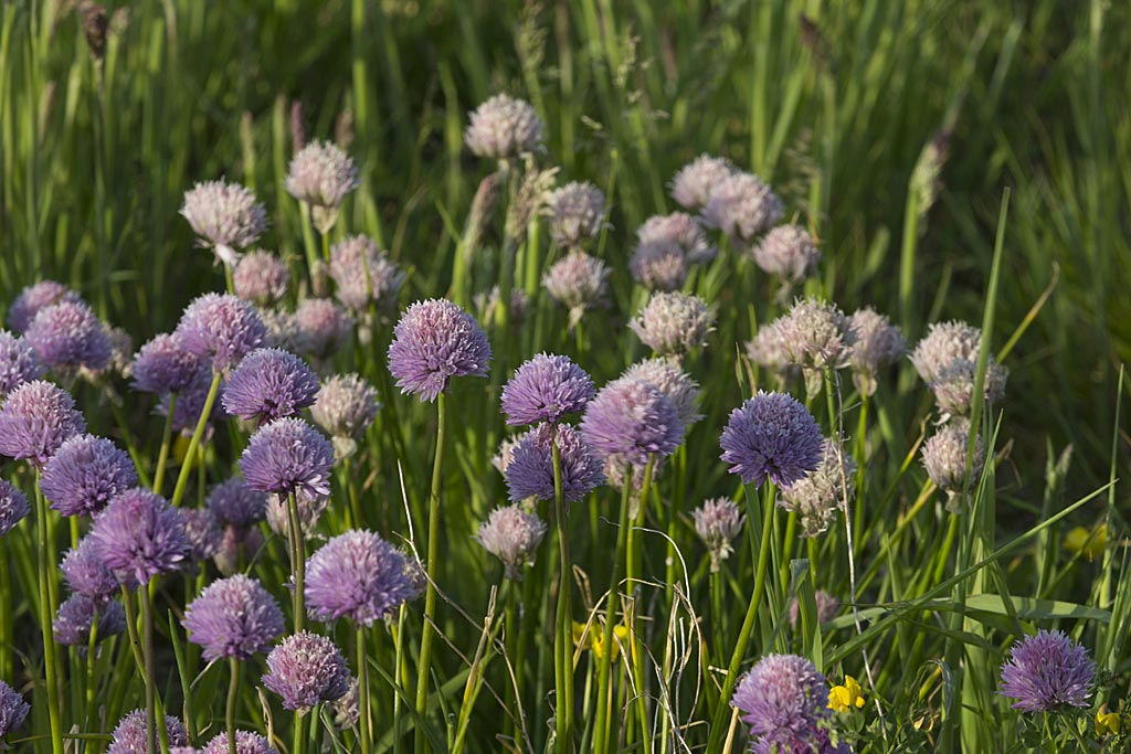
[[240,457],[248,486],[318,500],[330,494],[334,447],[303,419],[276,419],[251,435]]

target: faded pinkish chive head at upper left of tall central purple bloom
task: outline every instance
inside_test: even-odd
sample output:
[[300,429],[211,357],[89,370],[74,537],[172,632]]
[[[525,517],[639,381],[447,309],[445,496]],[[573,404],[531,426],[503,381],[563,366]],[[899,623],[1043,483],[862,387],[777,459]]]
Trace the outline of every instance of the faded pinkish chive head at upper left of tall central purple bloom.
[[330,250],[330,277],[334,295],[342,305],[355,313],[389,312],[397,307],[405,274],[389,261],[377,242],[364,235],[351,236]]

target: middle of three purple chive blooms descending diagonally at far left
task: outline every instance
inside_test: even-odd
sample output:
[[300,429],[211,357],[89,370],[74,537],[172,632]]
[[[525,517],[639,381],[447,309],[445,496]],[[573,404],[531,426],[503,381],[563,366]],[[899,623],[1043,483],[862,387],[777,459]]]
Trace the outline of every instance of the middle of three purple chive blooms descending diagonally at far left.
[[133,461],[112,441],[78,434],[43,467],[41,487],[62,515],[94,515],[138,483]]

